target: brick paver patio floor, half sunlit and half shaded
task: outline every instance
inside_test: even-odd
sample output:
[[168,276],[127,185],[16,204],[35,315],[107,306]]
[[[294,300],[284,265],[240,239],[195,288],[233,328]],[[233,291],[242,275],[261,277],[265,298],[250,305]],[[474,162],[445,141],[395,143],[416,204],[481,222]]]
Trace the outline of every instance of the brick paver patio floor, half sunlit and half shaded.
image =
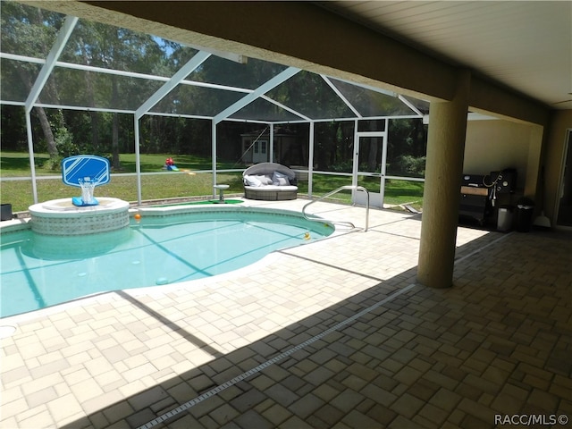
[[0,426],[572,427],[570,236],[460,227],[455,285],[434,290],[415,281],[420,227],[372,210],[370,231],[232,275],[1,319]]

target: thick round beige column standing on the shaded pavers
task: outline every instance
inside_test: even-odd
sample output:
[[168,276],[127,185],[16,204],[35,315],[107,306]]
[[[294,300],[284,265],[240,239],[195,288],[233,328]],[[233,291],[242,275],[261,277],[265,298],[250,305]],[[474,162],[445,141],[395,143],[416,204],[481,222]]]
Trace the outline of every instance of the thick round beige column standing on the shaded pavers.
[[460,72],[455,97],[429,109],[417,281],[431,288],[453,283],[470,81],[469,71]]

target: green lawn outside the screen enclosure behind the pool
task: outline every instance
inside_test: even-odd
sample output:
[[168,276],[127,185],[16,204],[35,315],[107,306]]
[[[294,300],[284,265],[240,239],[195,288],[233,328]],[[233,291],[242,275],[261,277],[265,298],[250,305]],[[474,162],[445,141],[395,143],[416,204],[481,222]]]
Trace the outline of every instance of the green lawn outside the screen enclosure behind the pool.
[[[210,172],[190,172],[192,170],[210,170],[212,165],[205,158],[197,156],[173,157],[180,172],[164,172],[163,165],[166,155],[141,155],[141,171],[157,172],[152,175],[141,176],[142,199],[162,198],[189,198],[206,197],[213,195],[213,175]],[[49,156],[35,154],[37,176],[55,176],[54,179],[38,180],[38,200],[47,201],[55,198],[79,197],[80,189],[64,185],[61,180],[61,172],[52,171],[47,167]],[[122,172],[135,172],[135,155],[122,154]],[[0,157],[0,177],[29,177],[29,156],[27,153],[2,152]],[[217,164],[218,168],[241,168],[240,165]],[[185,172],[184,170],[189,170]],[[225,195],[241,194],[241,172],[218,172],[218,183],[230,185],[225,190]],[[333,189],[351,184],[348,176],[335,176],[315,174],[312,182],[312,194],[314,197],[322,196]],[[359,184],[371,192],[379,191],[379,179],[372,177],[360,178]],[[423,182],[417,181],[386,181],[384,203],[400,205],[412,203],[412,206],[420,209],[423,201]],[[299,192],[307,194],[307,181],[299,182]],[[116,174],[110,183],[99,187],[95,191],[95,197],[113,197],[125,201],[137,201],[137,177],[134,175]],[[351,192],[342,191],[333,196],[343,204],[351,202]],[[30,180],[2,181],[0,184],[0,202],[10,203],[13,212],[28,210],[34,204],[32,185]]]

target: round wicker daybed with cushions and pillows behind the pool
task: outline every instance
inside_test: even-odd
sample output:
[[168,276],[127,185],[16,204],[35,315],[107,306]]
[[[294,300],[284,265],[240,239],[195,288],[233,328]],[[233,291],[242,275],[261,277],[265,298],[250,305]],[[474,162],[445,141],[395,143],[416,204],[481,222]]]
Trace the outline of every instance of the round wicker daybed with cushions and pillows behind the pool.
[[298,196],[296,173],[282,164],[254,164],[242,173],[242,181],[244,198],[280,201]]

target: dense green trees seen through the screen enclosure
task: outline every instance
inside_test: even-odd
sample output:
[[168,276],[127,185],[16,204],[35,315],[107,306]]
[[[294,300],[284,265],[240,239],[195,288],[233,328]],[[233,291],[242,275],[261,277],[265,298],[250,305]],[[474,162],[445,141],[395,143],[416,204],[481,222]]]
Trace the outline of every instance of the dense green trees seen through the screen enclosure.
[[[62,26],[63,16],[13,2],[4,2],[1,12],[3,52],[45,58],[54,44],[57,30]],[[80,20],[59,60],[170,78],[196,54],[197,50],[194,48],[162,38]],[[4,99],[24,101],[29,94],[29,88],[36,80],[41,64],[3,59],[2,65],[0,72],[3,82],[11,81],[11,85],[3,85],[3,97],[10,96]],[[247,63],[234,63],[212,55],[192,71],[187,79],[254,89],[285,68],[281,64],[252,58],[249,58]],[[13,79],[19,81],[16,80],[17,83],[12,84]],[[91,109],[63,111],[36,107],[32,111],[35,134],[36,129],[42,130],[40,134],[44,134],[46,148],[51,156],[56,157],[58,153],[63,156],[73,152],[91,152],[108,156],[114,168],[119,169],[119,154],[122,150],[132,150],[133,145],[132,115],[122,114],[122,111],[137,110],[163,84],[163,81],[141,79],[117,72],[101,73],[56,66],[40,94],[40,101]],[[396,97],[354,87],[340,80],[330,79],[326,82],[321,76],[308,71],[300,71],[268,91],[265,96],[313,119],[353,117],[355,114],[349,105],[346,101],[341,101],[330,85],[334,86],[336,91],[341,91],[348,104],[356,107],[365,116],[407,114]],[[244,93],[205,86],[178,85],[151,108],[151,113],[161,112],[170,114],[169,116],[147,114],[141,120],[142,151],[210,156],[210,122],[177,115],[214,116],[241,97],[244,97]],[[111,110],[99,112],[99,109]],[[3,109],[2,114],[4,120],[7,111]],[[258,99],[243,107],[234,115],[234,119],[290,121],[298,117],[288,109],[282,109],[265,99]],[[360,124],[362,122],[366,121],[360,121]],[[393,122],[392,120],[391,123]],[[426,137],[423,125],[419,125],[420,122],[407,121],[395,123],[394,127],[390,126],[389,131],[388,156],[391,164],[396,168],[401,164],[420,165],[422,160],[409,160],[403,156],[412,154],[415,158],[420,158],[425,155]],[[3,136],[5,124],[15,125],[16,122],[3,121]],[[240,133],[248,129],[246,124],[234,125],[219,127],[217,131],[218,146],[222,149],[218,153],[228,156],[230,161],[240,157]],[[350,172],[354,133],[354,121],[316,122],[314,160],[317,167],[322,170]],[[300,147],[306,149],[301,150],[300,154],[304,154],[304,150],[307,152],[309,145],[307,135],[302,134],[299,139]],[[364,168],[375,171],[380,162],[381,142],[372,141],[369,147],[366,144],[363,146],[360,153],[363,164],[366,164]],[[300,159],[307,159],[308,155],[300,155]]]

